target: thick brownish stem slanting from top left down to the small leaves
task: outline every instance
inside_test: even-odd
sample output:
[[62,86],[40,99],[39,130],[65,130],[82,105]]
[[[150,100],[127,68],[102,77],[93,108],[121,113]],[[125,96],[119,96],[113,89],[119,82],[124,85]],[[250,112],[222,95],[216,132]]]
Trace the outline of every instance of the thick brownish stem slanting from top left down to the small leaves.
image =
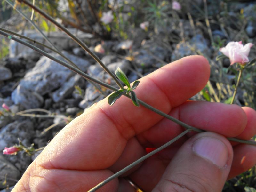
[[57,26],[60,30],[64,31],[71,39],[73,39],[77,44],[79,44],[86,52],[88,52],[89,55],[92,56],[92,58],[94,60],[96,60],[100,66],[116,81],[116,84],[123,89],[123,85],[118,81],[118,79],[116,78],[116,76],[104,65],[104,63],[102,63],[102,61],[100,60],[100,58],[95,55],[88,47],[87,45],[82,42],[79,38],[77,38],[75,35],[73,35],[72,33],[70,33],[68,31],[67,28],[63,27],[62,25],[60,25],[58,22],[56,22],[50,15],[48,15],[47,13],[43,12],[42,10],[40,10],[38,7],[34,6],[33,4],[31,4],[30,2],[28,2],[27,0],[18,0],[19,2],[23,2],[24,4],[28,5],[29,7],[31,7],[32,9],[34,9],[36,12],[38,12],[39,14],[41,14],[45,19],[49,20],[50,22],[52,22],[55,26]]

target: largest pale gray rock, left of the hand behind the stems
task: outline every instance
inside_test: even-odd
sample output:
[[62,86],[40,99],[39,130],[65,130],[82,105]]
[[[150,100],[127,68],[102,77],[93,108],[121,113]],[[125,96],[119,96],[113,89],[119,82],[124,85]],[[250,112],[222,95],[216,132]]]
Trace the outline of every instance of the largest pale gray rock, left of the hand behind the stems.
[[[78,58],[68,52],[62,53],[68,57],[68,59],[73,61],[82,71],[86,71],[86,68],[90,65],[87,60]],[[53,53],[52,55],[63,60],[58,54]],[[63,84],[67,82],[69,78],[74,76],[74,74],[74,72],[59,63],[52,61],[47,57],[42,57],[12,92],[12,101],[15,104],[20,103],[26,109],[34,108],[35,106],[40,107],[43,101],[41,101],[41,97],[39,99],[40,102],[38,103],[38,95],[43,96],[52,92],[52,90],[63,86]],[[30,95],[32,98],[30,98]],[[33,101],[33,104],[30,103],[31,100]]]

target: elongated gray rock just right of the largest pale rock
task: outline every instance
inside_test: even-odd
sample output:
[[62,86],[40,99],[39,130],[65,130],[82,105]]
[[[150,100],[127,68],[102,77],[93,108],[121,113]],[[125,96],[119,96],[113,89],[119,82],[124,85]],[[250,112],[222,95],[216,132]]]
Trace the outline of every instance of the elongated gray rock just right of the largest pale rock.
[[65,82],[63,86],[60,87],[60,89],[53,92],[52,100],[55,103],[63,100],[68,95],[72,94],[76,85],[81,85],[83,83],[84,83],[84,79],[80,75],[76,74],[75,76],[71,77],[67,82]]

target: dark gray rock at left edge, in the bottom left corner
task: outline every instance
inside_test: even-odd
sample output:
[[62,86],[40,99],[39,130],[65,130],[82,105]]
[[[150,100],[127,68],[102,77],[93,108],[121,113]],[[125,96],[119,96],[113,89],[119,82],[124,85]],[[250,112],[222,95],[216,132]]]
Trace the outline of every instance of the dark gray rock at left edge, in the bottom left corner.
[[8,162],[2,154],[0,154],[0,183],[4,182],[6,175],[6,185],[0,185],[0,189],[13,186],[20,179],[20,171],[10,162]]

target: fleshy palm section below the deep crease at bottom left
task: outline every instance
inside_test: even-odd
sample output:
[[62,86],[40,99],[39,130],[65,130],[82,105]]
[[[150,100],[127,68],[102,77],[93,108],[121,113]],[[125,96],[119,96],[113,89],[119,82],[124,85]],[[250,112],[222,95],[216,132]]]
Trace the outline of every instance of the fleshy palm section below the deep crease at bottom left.
[[[30,171],[31,169],[32,171]],[[95,187],[111,175],[113,173],[109,170],[44,169],[37,166],[34,161],[23,175],[23,178],[25,177],[26,180],[20,180],[12,191],[84,192]],[[118,179],[114,179],[97,190],[97,192],[117,191],[118,184]]]

